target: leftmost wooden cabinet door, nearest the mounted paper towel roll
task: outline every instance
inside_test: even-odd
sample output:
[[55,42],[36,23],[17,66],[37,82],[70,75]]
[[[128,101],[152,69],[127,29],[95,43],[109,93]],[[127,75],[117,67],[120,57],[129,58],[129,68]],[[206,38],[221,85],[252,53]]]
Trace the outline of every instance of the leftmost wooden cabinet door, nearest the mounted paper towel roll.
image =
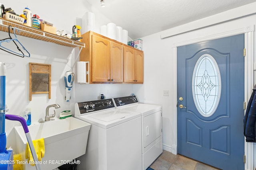
[[110,41],[92,35],[92,82],[110,80]]

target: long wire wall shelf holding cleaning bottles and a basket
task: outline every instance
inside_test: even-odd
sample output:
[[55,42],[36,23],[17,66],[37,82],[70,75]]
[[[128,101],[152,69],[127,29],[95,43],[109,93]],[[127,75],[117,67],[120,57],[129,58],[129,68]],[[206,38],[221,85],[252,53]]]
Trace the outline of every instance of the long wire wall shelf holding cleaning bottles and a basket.
[[[28,27],[25,25],[21,25],[19,23],[11,22],[8,20],[5,20],[3,18],[0,18],[0,31],[8,32],[8,26],[11,25],[11,27],[16,27],[16,35],[21,35],[24,37],[30,37],[33,39],[39,39],[42,41],[55,43],[59,45],[64,45],[67,47],[85,47],[85,44],[79,41],[75,41],[72,39],[68,39],[65,37],[61,37],[59,35],[54,35],[52,33],[48,33],[45,31],[42,31],[40,29],[34,29],[32,27]],[[10,30],[10,33],[12,33],[12,29]]]

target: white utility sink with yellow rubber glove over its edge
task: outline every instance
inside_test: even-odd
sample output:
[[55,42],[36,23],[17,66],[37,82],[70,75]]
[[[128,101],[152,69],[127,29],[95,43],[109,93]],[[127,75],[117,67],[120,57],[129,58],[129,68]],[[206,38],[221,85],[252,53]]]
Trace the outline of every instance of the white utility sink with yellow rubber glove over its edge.
[[[45,154],[40,162],[41,169],[52,170],[85,154],[90,127],[90,123],[74,117],[28,126],[32,140],[44,138]],[[23,170],[36,170],[36,166],[31,166],[25,159],[27,139],[22,126],[14,128]]]

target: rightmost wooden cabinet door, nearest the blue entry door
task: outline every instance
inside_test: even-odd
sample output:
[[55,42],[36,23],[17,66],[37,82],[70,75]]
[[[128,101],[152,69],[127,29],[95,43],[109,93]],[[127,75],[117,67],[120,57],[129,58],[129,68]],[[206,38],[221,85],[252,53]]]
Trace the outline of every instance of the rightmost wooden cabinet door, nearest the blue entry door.
[[143,51],[135,51],[135,82],[143,83]]

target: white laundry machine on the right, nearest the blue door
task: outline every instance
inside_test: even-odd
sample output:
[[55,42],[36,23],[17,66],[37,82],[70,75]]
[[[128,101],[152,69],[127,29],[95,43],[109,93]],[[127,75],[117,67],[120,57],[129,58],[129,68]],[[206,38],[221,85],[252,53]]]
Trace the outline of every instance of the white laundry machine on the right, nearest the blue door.
[[136,96],[114,98],[117,109],[142,115],[142,169],[146,170],[163,152],[162,106],[141,104]]

